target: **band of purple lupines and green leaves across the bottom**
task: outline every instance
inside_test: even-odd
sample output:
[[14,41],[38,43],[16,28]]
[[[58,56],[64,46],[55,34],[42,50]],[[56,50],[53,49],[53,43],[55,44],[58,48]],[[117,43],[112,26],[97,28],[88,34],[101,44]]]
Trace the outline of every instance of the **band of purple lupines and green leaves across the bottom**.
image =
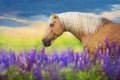
[[120,80],[120,46],[108,41],[107,50],[100,46],[91,58],[87,49],[71,48],[51,55],[31,49],[14,52],[0,49],[0,80]]

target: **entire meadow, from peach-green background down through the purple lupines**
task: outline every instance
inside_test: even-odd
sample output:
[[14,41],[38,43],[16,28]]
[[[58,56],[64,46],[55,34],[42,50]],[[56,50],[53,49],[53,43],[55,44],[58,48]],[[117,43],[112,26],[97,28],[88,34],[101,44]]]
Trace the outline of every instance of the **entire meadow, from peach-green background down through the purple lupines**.
[[107,51],[98,46],[91,58],[70,33],[44,48],[44,30],[44,26],[0,27],[0,80],[120,80],[116,43],[110,48],[106,41]]

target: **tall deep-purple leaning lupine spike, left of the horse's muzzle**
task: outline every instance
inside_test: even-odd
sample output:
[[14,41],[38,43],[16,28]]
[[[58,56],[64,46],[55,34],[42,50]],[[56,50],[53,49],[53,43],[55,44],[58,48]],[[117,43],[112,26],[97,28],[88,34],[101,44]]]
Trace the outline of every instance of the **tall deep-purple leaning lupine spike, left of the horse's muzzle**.
[[36,50],[31,49],[29,53],[28,64],[27,64],[28,71],[31,70],[31,68],[33,67],[33,63],[35,62],[35,59],[36,59]]

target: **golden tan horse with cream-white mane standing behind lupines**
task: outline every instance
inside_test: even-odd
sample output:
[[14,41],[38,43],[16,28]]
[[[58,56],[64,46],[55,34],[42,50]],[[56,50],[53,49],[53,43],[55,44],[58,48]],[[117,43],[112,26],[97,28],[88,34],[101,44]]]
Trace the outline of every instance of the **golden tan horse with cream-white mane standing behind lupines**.
[[44,46],[50,46],[51,41],[65,31],[76,36],[90,52],[93,52],[98,44],[101,44],[102,49],[105,49],[106,36],[109,39],[109,44],[112,44],[112,41],[120,43],[119,23],[94,14],[66,12],[50,16],[48,29],[43,37]]

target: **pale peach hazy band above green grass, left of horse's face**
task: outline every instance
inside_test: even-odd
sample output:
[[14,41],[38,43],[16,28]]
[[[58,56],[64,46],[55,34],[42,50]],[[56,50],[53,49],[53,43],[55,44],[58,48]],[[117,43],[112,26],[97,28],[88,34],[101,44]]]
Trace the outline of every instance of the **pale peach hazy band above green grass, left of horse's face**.
[[45,31],[46,23],[41,23],[38,26],[30,27],[5,27],[0,26],[0,33],[14,37],[37,37]]

